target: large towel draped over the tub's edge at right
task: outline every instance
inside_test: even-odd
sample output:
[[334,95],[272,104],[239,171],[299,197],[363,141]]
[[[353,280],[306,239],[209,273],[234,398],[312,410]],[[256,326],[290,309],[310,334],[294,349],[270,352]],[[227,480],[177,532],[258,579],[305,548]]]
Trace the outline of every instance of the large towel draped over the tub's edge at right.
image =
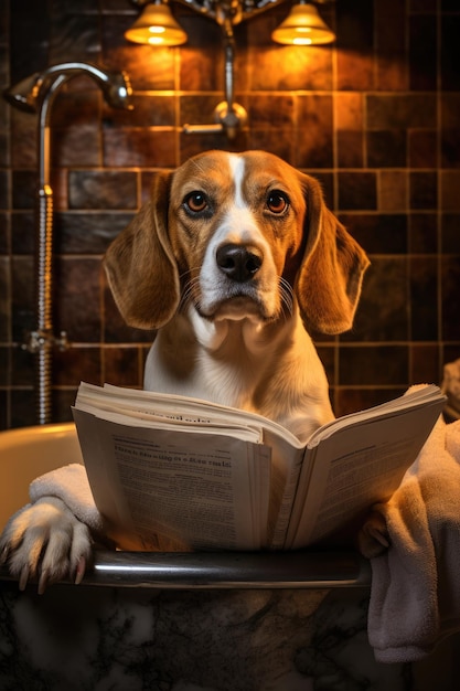
[[399,488],[374,507],[363,530],[375,657],[419,660],[460,629],[460,422],[437,422]]

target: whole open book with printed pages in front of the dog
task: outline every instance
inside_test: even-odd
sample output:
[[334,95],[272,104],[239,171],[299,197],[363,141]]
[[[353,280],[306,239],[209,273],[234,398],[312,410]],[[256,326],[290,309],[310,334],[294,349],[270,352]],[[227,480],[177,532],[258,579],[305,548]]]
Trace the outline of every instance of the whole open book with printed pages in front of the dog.
[[445,403],[425,385],[306,445],[253,413],[82,383],[74,419],[95,502],[126,549],[290,550],[387,500]]

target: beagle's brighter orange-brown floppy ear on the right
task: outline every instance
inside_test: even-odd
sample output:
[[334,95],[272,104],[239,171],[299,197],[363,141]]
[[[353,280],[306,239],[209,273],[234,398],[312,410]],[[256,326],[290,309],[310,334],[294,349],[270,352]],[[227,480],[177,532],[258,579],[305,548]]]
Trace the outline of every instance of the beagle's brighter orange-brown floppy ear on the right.
[[300,312],[308,329],[342,333],[352,327],[370,262],[327,208],[319,182],[299,176],[307,201],[307,246],[296,281]]

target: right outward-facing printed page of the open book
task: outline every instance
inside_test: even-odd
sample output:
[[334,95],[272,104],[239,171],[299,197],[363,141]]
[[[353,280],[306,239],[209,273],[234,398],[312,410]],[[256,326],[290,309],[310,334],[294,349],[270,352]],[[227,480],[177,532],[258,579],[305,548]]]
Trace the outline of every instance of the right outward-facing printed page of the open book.
[[415,461],[443,398],[342,426],[307,448],[287,549],[346,532],[376,502],[386,501]]

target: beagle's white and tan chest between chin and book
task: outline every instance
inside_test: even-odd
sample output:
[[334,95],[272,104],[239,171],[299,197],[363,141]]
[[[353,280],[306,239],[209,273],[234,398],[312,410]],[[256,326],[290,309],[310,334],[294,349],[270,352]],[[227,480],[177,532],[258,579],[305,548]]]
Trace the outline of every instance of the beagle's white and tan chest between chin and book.
[[292,318],[281,328],[249,318],[211,322],[191,309],[158,334],[145,389],[259,413],[302,440],[333,417],[322,364]]

